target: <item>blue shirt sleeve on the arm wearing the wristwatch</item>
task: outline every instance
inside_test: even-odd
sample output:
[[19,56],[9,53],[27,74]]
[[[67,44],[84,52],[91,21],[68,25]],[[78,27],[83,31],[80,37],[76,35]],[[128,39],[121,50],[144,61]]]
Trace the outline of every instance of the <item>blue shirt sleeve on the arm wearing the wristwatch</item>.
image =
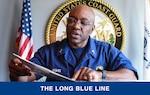
[[138,78],[137,70],[132,65],[131,61],[123,54],[122,51],[110,45],[109,48],[109,70],[117,70],[120,68],[125,68],[132,70],[136,77]]

